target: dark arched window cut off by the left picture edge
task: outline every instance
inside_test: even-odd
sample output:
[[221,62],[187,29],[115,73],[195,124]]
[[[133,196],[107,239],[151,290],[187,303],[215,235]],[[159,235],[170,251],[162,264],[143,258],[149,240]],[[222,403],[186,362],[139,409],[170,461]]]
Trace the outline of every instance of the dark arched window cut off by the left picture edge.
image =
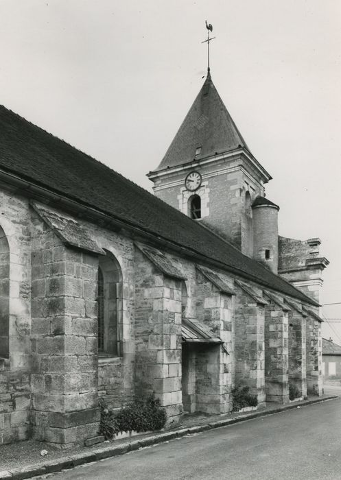
[[0,358],[10,357],[10,248],[0,227]]

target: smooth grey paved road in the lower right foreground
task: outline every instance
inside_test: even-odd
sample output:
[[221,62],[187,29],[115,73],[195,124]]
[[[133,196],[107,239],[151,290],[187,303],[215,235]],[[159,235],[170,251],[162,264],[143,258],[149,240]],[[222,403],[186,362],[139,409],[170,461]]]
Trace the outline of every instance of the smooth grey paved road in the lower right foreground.
[[54,480],[340,480],[341,398],[172,440]]

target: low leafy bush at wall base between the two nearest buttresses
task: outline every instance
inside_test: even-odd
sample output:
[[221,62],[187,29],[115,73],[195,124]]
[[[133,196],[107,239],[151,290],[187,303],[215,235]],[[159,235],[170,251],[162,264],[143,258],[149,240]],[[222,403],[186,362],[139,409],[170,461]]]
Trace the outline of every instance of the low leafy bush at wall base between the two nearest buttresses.
[[99,433],[104,435],[106,440],[113,438],[119,431],[160,430],[165,427],[167,420],[166,411],[161,407],[160,400],[153,395],[134,400],[116,415],[108,408],[103,398],[99,400],[99,407],[101,409]]

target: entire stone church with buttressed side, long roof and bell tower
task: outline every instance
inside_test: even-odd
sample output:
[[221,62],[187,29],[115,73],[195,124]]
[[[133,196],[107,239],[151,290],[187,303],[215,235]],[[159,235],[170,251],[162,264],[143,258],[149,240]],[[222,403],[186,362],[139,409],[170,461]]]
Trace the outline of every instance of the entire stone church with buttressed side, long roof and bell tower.
[[271,180],[210,70],[154,195],[0,107],[0,444],[97,435],[99,398],[184,411],[322,394],[318,238],[279,236]]

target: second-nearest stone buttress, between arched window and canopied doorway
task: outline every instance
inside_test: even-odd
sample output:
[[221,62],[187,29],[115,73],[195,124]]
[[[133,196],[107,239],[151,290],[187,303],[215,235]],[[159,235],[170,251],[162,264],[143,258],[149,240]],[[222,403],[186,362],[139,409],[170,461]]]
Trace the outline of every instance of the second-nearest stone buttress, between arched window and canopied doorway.
[[159,398],[167,422],[178,421],[181,395],[181,280],[158,250],[135,249],[136,393]]

